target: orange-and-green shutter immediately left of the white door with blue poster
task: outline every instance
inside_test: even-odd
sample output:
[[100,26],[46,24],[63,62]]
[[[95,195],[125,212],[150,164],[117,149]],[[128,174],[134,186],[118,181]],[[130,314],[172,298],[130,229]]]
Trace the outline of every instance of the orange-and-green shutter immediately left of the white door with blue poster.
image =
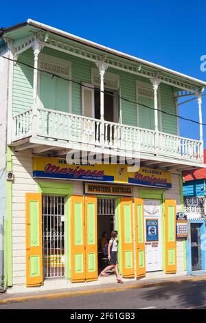
[[146,276],[144,242],[144,200],[135,198],[135,234],[137,276]]

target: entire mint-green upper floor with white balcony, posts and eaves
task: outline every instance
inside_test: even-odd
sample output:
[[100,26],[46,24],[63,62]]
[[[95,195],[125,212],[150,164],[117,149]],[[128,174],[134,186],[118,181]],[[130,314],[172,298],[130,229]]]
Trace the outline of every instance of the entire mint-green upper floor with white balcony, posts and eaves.
[[[43,29],[36,23],[22,39],[5,34],[16,60],[8,133],[16,151],[77,149],[168,169],[203,166],[204,82]],[[188,96],[196,97],[199,140],[179,135],[178,100]]]

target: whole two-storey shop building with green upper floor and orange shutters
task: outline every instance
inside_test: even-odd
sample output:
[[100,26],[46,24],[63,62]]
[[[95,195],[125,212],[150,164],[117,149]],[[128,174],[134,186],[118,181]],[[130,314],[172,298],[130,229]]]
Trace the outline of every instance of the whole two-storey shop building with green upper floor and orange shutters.
[[[0,39],[5,287],[98,280],[112,229],[125,278],[187,274],[176,212],[181,171],[204,167],[203,127],[200,140],[181,137],[175,115],[194,96],[202,123],[206,83],[31,19]],[[108,164],[69,165],[71,150]],[[121,164],[125,155],[141,168]]]

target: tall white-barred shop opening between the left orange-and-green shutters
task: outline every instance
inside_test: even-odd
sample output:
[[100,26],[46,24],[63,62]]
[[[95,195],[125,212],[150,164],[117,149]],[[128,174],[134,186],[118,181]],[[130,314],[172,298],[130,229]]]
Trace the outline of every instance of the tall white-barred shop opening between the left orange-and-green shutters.
[[65,197],[43,196],[43,277],[65,276]]

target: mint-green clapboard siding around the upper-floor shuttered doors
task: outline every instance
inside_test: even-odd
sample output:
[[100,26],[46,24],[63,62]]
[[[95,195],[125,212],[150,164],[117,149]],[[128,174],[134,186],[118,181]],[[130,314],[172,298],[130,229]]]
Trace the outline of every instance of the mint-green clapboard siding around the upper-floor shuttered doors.
[[[55,56],[56,58],[62,58],[71,61],[71,78],[76,82],[91,83],[91,67],[96,67],[94,63],[77,58],[69,54],[58,52],[54,49],[44,47],[43,54]],[[32,49],[19,56],[19,60],[34,65],[34,55]],[[133,74],[126,73],[125,71],[119,71],[117,69],[108,68],[114,74],[119,76],[120,82],[120,94],[122,98],[137,102],[136,96],[136,81],[141,80],[144,82],[150,81],[147,78],[141,76],[135,76]],[[19,113],[32,107],[32,83],[33,83],[33,71],[30,67],[23,65],[14,66],[14,91],[13,91],[13,113]],[[72,83],[71,86],[71,112],[77,115],[82,114],[82,98],[81,87],[76,83]],[[169,113],[176,113],[176,107],[174,104],[172,87],[169,85],[160,85],[160,98],[161,109]],[[127,102],[121,100],[121,116],[122,124],[128,124],[130,126],[137,126],[137,104],[133,102]],[[166,133],[177,134],[176,118],[170,115],[161,113],[162,126],[159,130]],[[141,124],[142,123],[142,124]],[[144,127],[144,122],[140,122],[139,126]]]

